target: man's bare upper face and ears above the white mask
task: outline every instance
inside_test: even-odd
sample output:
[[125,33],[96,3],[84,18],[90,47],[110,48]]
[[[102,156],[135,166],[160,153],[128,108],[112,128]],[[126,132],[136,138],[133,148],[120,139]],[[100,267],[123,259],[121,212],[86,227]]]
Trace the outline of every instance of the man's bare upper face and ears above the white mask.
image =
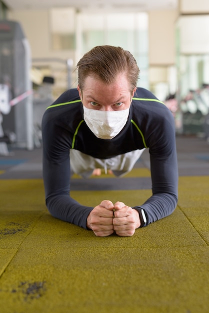
[[105,84],[98,77],[87,76],[84,88],[79,91],[82,104],[90,109],[103,111],[117,111],[129,108],[133,93],[130,93],[130,86],[124,73],[118,74],[115,82]]

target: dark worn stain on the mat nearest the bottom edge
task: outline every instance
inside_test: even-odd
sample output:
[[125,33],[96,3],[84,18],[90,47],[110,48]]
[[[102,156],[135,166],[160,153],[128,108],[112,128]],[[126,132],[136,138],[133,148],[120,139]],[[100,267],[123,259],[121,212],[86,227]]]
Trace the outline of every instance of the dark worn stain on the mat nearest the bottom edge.
[[11,292],[21,292],[24,295],[24,300],[38,299],[46,291],[46,281],[21,281],[16,289],[12,289]]

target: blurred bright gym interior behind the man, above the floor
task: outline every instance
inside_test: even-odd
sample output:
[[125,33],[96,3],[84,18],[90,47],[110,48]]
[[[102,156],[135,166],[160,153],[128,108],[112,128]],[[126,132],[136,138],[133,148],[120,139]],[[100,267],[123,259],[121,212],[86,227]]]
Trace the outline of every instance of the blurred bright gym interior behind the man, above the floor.
[[41,146],[41,117],[95,45],[129,50],[176,134],[209,138],[208,0],[0,0],[0,155]]

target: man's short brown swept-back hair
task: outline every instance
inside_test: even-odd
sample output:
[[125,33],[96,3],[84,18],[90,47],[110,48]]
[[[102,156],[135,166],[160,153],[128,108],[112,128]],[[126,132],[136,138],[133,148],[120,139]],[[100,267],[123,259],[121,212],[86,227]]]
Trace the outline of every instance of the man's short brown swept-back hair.
[[133,55],[121,47],[111,45],[95,46],[78,61],[78,85],[82,90],[85,78],[91,74],[104,83],[112,83],[119,73],[126,73],[130,92],[136,87],[139,68]]

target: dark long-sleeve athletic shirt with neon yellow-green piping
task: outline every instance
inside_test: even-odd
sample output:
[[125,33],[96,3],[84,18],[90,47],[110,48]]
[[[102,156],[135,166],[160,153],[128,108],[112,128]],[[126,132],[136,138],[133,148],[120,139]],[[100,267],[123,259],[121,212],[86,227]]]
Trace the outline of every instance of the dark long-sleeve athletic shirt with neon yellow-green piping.
[[150,91],[137,88],[127,123],[112,139],[99,139],[88,128],[77,89],[65,91],[47,107],[41,128],[45,200],[54,217],[86,228],[93,209],[70,197],[69,149],[105,159],[148,148],[152,195],[134,208],[144,209],[147,224],[174,210],[178,183],[174,119]]

